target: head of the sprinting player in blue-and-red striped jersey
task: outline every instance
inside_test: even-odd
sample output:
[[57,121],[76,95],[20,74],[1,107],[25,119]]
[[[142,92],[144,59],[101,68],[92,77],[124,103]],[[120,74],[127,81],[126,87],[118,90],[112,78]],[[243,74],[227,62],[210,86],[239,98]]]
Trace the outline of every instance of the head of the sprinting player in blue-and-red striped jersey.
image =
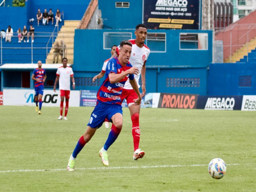
[[124,40],[120,43],[120,50],[118,60],[121,64],[128,63],[132,53],[132,43],[128,40]]

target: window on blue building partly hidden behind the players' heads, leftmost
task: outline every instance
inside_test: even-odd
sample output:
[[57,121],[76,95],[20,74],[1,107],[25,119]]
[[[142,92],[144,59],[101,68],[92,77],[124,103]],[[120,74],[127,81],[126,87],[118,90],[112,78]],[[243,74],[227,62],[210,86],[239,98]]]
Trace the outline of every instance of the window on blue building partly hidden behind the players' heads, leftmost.
[[112,45],[119,45],[123,40],[132,39],[130,32],[104,32],[103,49],[111,49]]

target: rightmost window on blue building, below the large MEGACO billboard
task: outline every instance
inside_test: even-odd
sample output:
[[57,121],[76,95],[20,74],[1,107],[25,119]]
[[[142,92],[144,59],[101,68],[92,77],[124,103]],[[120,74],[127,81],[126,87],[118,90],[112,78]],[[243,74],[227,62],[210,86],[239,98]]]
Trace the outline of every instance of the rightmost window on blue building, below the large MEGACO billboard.
[[207,33],[180,33],[180,49],[208,50]]

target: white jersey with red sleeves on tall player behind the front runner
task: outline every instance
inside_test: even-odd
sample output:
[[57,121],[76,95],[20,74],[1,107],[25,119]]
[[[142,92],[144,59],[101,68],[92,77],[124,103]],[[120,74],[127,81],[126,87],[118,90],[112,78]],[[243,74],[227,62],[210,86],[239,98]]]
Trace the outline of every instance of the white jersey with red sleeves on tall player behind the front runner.
[[[148,56],[150,54],[150,49],[144,44],[142,48],[138,47],[135,43],[135,39],[129,40],[132,43],[132,54],[130,57],[130,64],[132,64],[133,67],[138,68],[139,73],[138,75],[134,74],[134,78],[138,84],[138,87],[140,88],[139,79],[140,79],[140,72],[142,69],[142,66],[144,63],[146,63],[146,60],[148,59]],[[116,53],[119,55],[119,49],[120,45],[116,48]],[[129,80],[126,81],[124,85],[124,89],[132,89],[132,86],[129,82]]]

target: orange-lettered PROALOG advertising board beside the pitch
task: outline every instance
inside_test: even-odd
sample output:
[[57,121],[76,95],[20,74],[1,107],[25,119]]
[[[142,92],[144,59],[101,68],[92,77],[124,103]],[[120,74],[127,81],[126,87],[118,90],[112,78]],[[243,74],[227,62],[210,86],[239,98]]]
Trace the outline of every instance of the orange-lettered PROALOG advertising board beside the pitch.
[[160,93],[158,108],[196,109],[197,94]]

